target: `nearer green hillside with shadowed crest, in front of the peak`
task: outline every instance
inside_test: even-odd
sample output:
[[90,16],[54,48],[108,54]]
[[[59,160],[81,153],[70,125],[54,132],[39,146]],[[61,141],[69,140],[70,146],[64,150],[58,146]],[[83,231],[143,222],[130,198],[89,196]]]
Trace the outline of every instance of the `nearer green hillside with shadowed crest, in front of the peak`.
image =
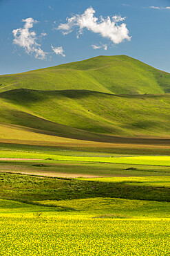
[[70,138],[169,136],[170,95],[16,89],[0,93],[0,119]]

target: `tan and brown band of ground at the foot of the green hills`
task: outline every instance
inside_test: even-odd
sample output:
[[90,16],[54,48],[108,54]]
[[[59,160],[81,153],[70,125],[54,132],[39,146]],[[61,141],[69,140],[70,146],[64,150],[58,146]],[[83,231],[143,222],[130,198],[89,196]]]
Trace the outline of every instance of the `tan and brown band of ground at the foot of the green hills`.
[[[3,129],[1,129],[3,128]],[[160,145],[146,145],[141,141],[133,144],[98,143],[94,141],[73,140],[33,131],[10,129],[0,125],[1,134],[4,132],[0,151],[37,152],[43,154],[67,154],[72,156],[169,156],[170,147]],[[19,138],[23,138],[19,140]],[[1,139],[2,140],[2,139]],[[0,140],[0,141],[1,141]],[[130,143],[130,142],[129,142]],[[151,144],[151,143],[150,143]]]

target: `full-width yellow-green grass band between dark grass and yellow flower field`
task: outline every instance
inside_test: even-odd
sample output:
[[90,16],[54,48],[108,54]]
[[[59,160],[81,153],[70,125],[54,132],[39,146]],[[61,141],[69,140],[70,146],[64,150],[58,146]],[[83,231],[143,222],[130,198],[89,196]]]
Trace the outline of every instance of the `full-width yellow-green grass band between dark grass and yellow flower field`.
[[164,201],[140,201],[118,198],[87,198],[66,200],[45,200],[23,203],[0,199],[0,217],[13,214],[14,217],[23,215],[41,217],[84,218],[84,219],[149,219],[169,218],[170,203]]

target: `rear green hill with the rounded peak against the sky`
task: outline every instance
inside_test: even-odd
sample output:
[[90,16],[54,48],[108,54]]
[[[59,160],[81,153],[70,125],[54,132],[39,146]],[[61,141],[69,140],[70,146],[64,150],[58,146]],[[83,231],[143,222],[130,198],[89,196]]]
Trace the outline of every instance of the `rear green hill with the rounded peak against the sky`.
[[115,94],[169,93],[169,73],[125,55],[99,56],[14,75],[0,76],[0,91],[86,89]]

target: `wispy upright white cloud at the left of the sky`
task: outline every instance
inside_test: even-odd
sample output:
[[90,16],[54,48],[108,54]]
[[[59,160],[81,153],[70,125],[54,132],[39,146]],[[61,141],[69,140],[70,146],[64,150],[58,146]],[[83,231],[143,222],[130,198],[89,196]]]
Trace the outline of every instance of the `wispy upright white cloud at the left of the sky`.
[[35,31],[30,30],[38,21],[32,18],[23,19],[22,21],[25,22],[23,28],[12,30],[14,35],[13,44],[23,47],[28,54],[34,54],[36,59],[44,60],[46,53],[41,49],[41,45],[36,42]]

